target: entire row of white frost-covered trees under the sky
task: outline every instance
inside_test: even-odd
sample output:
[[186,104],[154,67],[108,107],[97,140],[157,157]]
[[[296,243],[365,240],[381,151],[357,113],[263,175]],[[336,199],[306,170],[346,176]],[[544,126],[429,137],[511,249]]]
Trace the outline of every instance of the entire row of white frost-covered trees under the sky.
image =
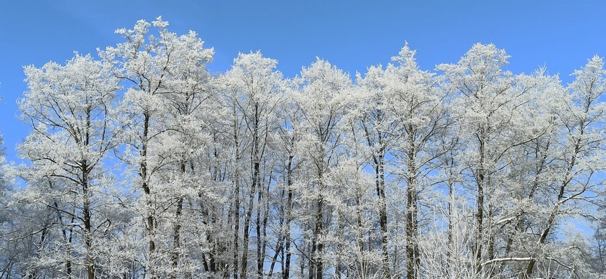
[[493,44],[435,72],[406,45],[355,82],[260,52],[211,75],[167,25],[25,68],[0,278],[606,274],[602,58],[565,87]]

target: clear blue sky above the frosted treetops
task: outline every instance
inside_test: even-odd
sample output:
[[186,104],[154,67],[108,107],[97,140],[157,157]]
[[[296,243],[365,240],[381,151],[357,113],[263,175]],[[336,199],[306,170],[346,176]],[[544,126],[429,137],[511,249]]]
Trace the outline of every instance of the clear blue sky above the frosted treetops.
[[17,1],[0,0],[0,132],[9,160],[28,128],[16,100],[26,90],[22,66],[63,63],[115,45],[113,30],[140,19],[194,30],[216,51],[209,68],[230,67],[238,51],[260,49],[296,75],[316,56],[352,75],[389,62],[409,42],[421,68],[455,63],[476,42],[512,58],[509,70],[545,64],[569,73],[595,54],[606,56],[606,1]]

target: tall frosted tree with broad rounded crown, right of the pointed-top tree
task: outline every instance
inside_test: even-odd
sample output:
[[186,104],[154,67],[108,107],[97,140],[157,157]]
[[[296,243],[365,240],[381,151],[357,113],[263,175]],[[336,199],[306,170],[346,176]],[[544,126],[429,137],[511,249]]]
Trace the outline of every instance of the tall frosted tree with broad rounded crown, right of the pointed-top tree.
[[[524,104],[528,103],[526,87],[519,87],[512,73],[503,70],[507,54],[493,44],[475,44],[457,64],[443,64],[447,82],[443,88],[459,97],[452,103],[452,117],[458,139],[464,149],[459,152],[463,164],[464,187],[474,192],[476,204],[476,243],[473,247],[476,273],[490,273],[483,262],[495,257],[495,223],[501,214],[497,202],[509,181],[507,168],[515,147],[536,135],[524,132]],[[506,190],[505,190],[506,191]]]

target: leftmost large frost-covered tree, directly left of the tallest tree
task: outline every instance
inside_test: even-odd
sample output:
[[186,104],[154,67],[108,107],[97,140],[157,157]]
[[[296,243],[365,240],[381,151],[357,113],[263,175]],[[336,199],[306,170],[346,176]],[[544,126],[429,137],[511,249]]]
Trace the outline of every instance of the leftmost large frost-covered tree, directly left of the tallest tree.
[[120,223],[104,167],[120,131],[113,123],[118,81],[110,70],[78,54],[65,66],[25,68],[28,91],[19,106],[32,130],[19,149],[32,165],[21,171],[27,186],[19,198],[47,209],[50,219],[37,224],[37,265],[51,276],[104,272],[104,246]]

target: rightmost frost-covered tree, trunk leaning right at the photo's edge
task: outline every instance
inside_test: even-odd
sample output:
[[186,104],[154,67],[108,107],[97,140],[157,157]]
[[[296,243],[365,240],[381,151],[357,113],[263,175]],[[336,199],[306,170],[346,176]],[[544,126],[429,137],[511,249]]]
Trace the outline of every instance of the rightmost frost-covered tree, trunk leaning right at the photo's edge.
[[[531,277],[552,262],[557,263],[562,274],[583,277],[586,263],[575,261],[581,258],[583,247],[576,244],[574,232],[563,228],[563,235],[569,237],[553,239],[555,231],[564,219],[574,216],[595,216],[591,206],[594,199],[603,191],[604,144],[605,144],[605,110],[602,97],[606,92],[606,70],[599,56],[591,58],[586,66],[575,70],[576,77],[568,86],[569,94],[560,102],[557,110],[557,120],[561,128],[556,138],[555,156],[550,164],[550,179],[548,180],[545,199],[541,201],[547,210],[540,211],[540,221],[537,224],[537,237],[528,244],[531,260],[526,266],[525,276]],[[581,222],[577,220],[576,222]],[[571,239],[566,239],[571,238]],[[567,247],[558,249],[559,243],[567,243]]]

